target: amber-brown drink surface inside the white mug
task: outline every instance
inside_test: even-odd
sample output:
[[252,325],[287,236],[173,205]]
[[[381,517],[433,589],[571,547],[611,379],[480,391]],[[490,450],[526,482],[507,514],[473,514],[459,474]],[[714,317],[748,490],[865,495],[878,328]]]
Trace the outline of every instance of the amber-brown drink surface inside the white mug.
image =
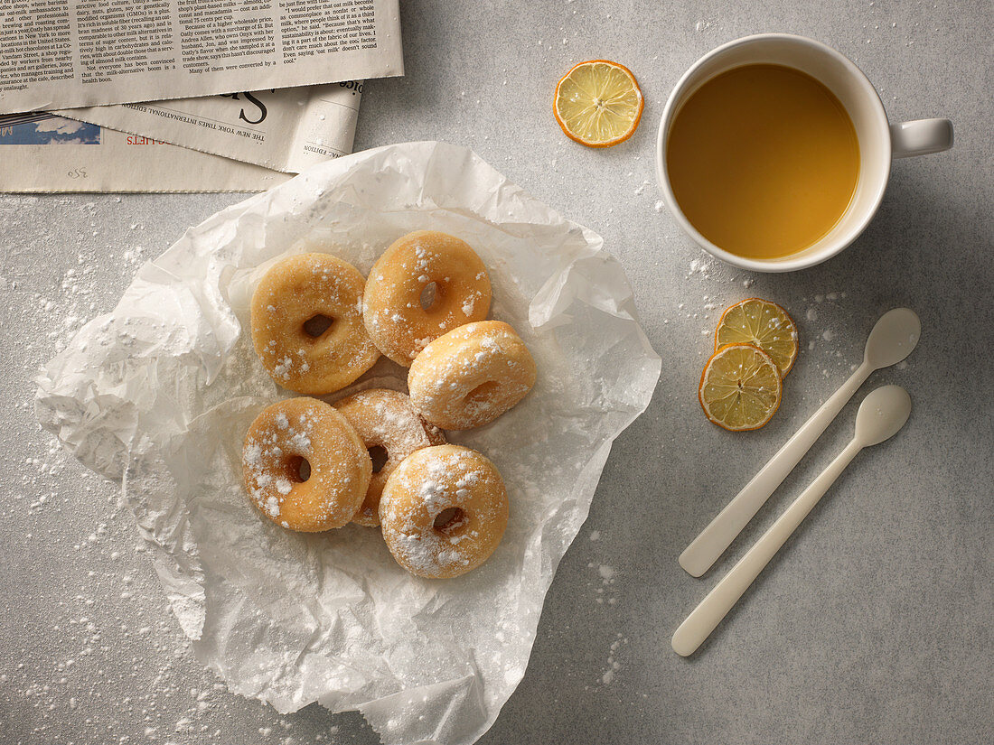
[[670,128],[677,204],[720,248],[778,258],[816,242],[856,191],[859,141],[839,99],[810,75],[747,65],[705,82]]

